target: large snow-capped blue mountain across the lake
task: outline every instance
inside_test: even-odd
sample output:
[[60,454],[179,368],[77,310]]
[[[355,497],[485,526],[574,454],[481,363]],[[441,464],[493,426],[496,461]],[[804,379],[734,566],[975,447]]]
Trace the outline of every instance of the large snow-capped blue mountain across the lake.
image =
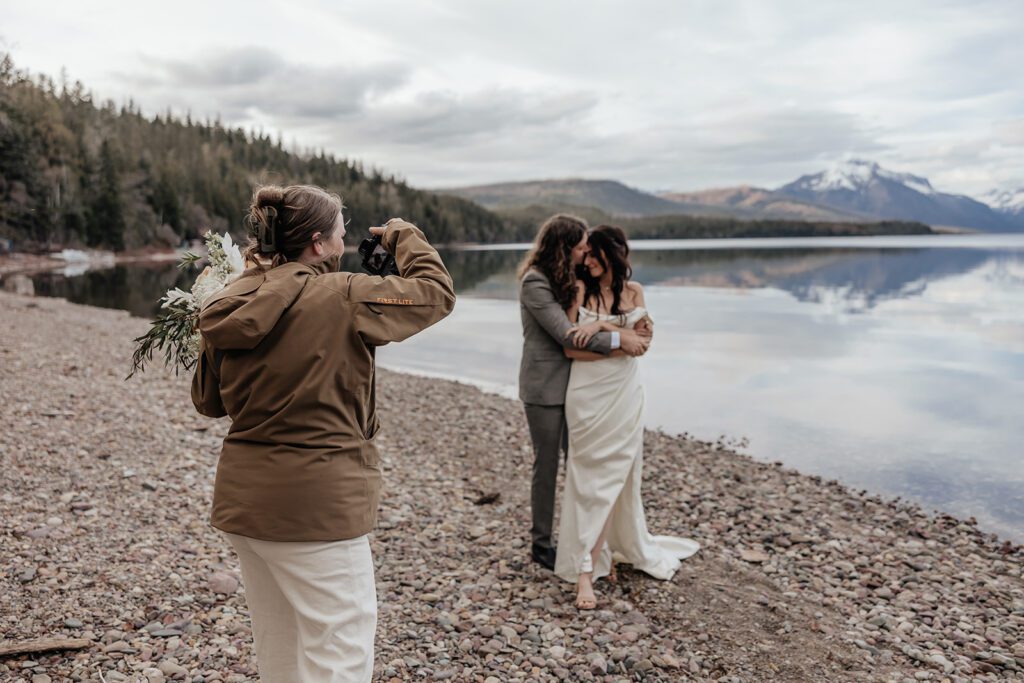
[[994,211],[970,197],[938,191],[927,178],[896,173],[861,159],[801,176],[776,191],[879,219],[919,220],[933,226],[951,225],[992,232],[1024,229],[1024,221]]

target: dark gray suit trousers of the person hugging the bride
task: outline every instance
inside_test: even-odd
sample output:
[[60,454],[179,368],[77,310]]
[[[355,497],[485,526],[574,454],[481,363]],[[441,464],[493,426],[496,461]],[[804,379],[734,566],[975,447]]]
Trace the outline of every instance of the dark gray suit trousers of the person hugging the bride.
[[529,533],[535,544],[551,548],[559,454],[568,452],[569,433],[565,425],[565,407],[523,403],[523,408],[529,425],[529,437],[534,441],[534,478],[529,487],[534,524]]

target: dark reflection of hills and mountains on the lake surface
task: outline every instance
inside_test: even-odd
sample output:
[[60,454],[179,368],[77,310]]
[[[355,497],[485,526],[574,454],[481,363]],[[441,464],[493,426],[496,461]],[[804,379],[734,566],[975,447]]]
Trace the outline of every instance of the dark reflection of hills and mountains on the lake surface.
[[[632,254],[634,278],[645,286],[752,290],[773,288],[800,301],[828,302],[848,312],[921,294],[928,283],[994,264],[1013,278],[1019,252],[983,249],[644,249]],[[523,252],[442,251],[461,296],[515,299]],[[357,271],[349,251],[343,268]],[[1017,275],[1019,278],[1019,275]],[[77,303],[122,308],[151,316],[172,287],[187,287],[195,272],[172,263],[131,263],[86,272],[33,275],[36,291]],[[1018,281],[1019,284],[1019,281]]]

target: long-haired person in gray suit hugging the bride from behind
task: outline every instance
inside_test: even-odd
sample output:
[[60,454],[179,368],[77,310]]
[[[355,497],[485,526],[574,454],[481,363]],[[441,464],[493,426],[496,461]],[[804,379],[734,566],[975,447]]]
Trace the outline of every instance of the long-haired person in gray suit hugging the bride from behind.
[[[522,317],[522,359],[519,399],[526,412],[534,442],[530,509],[534,561],[553,569],[556,549],[551,541],[555,516],[555,483],[559,453],[567,450],[565,389],[572,361],[572,324],[565,314],[575,297],[575,267],[588,253],[587,223],[557,214],[541,225],[532,249],[519,266],[519,309]],[[650,330],[599,332],[582,348],[608,354],[621,348],[641,355],[650,345]]]

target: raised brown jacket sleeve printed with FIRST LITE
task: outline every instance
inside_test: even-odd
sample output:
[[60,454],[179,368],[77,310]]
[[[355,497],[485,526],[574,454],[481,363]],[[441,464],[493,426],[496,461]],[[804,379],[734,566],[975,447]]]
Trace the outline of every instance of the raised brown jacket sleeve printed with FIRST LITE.
[[381,245],[394,254],[398,275],[353,274],[348,298],[367,344],[398,342],[426,330],[455,307],[455,288],[437,250],[412,223],[388,225]]

